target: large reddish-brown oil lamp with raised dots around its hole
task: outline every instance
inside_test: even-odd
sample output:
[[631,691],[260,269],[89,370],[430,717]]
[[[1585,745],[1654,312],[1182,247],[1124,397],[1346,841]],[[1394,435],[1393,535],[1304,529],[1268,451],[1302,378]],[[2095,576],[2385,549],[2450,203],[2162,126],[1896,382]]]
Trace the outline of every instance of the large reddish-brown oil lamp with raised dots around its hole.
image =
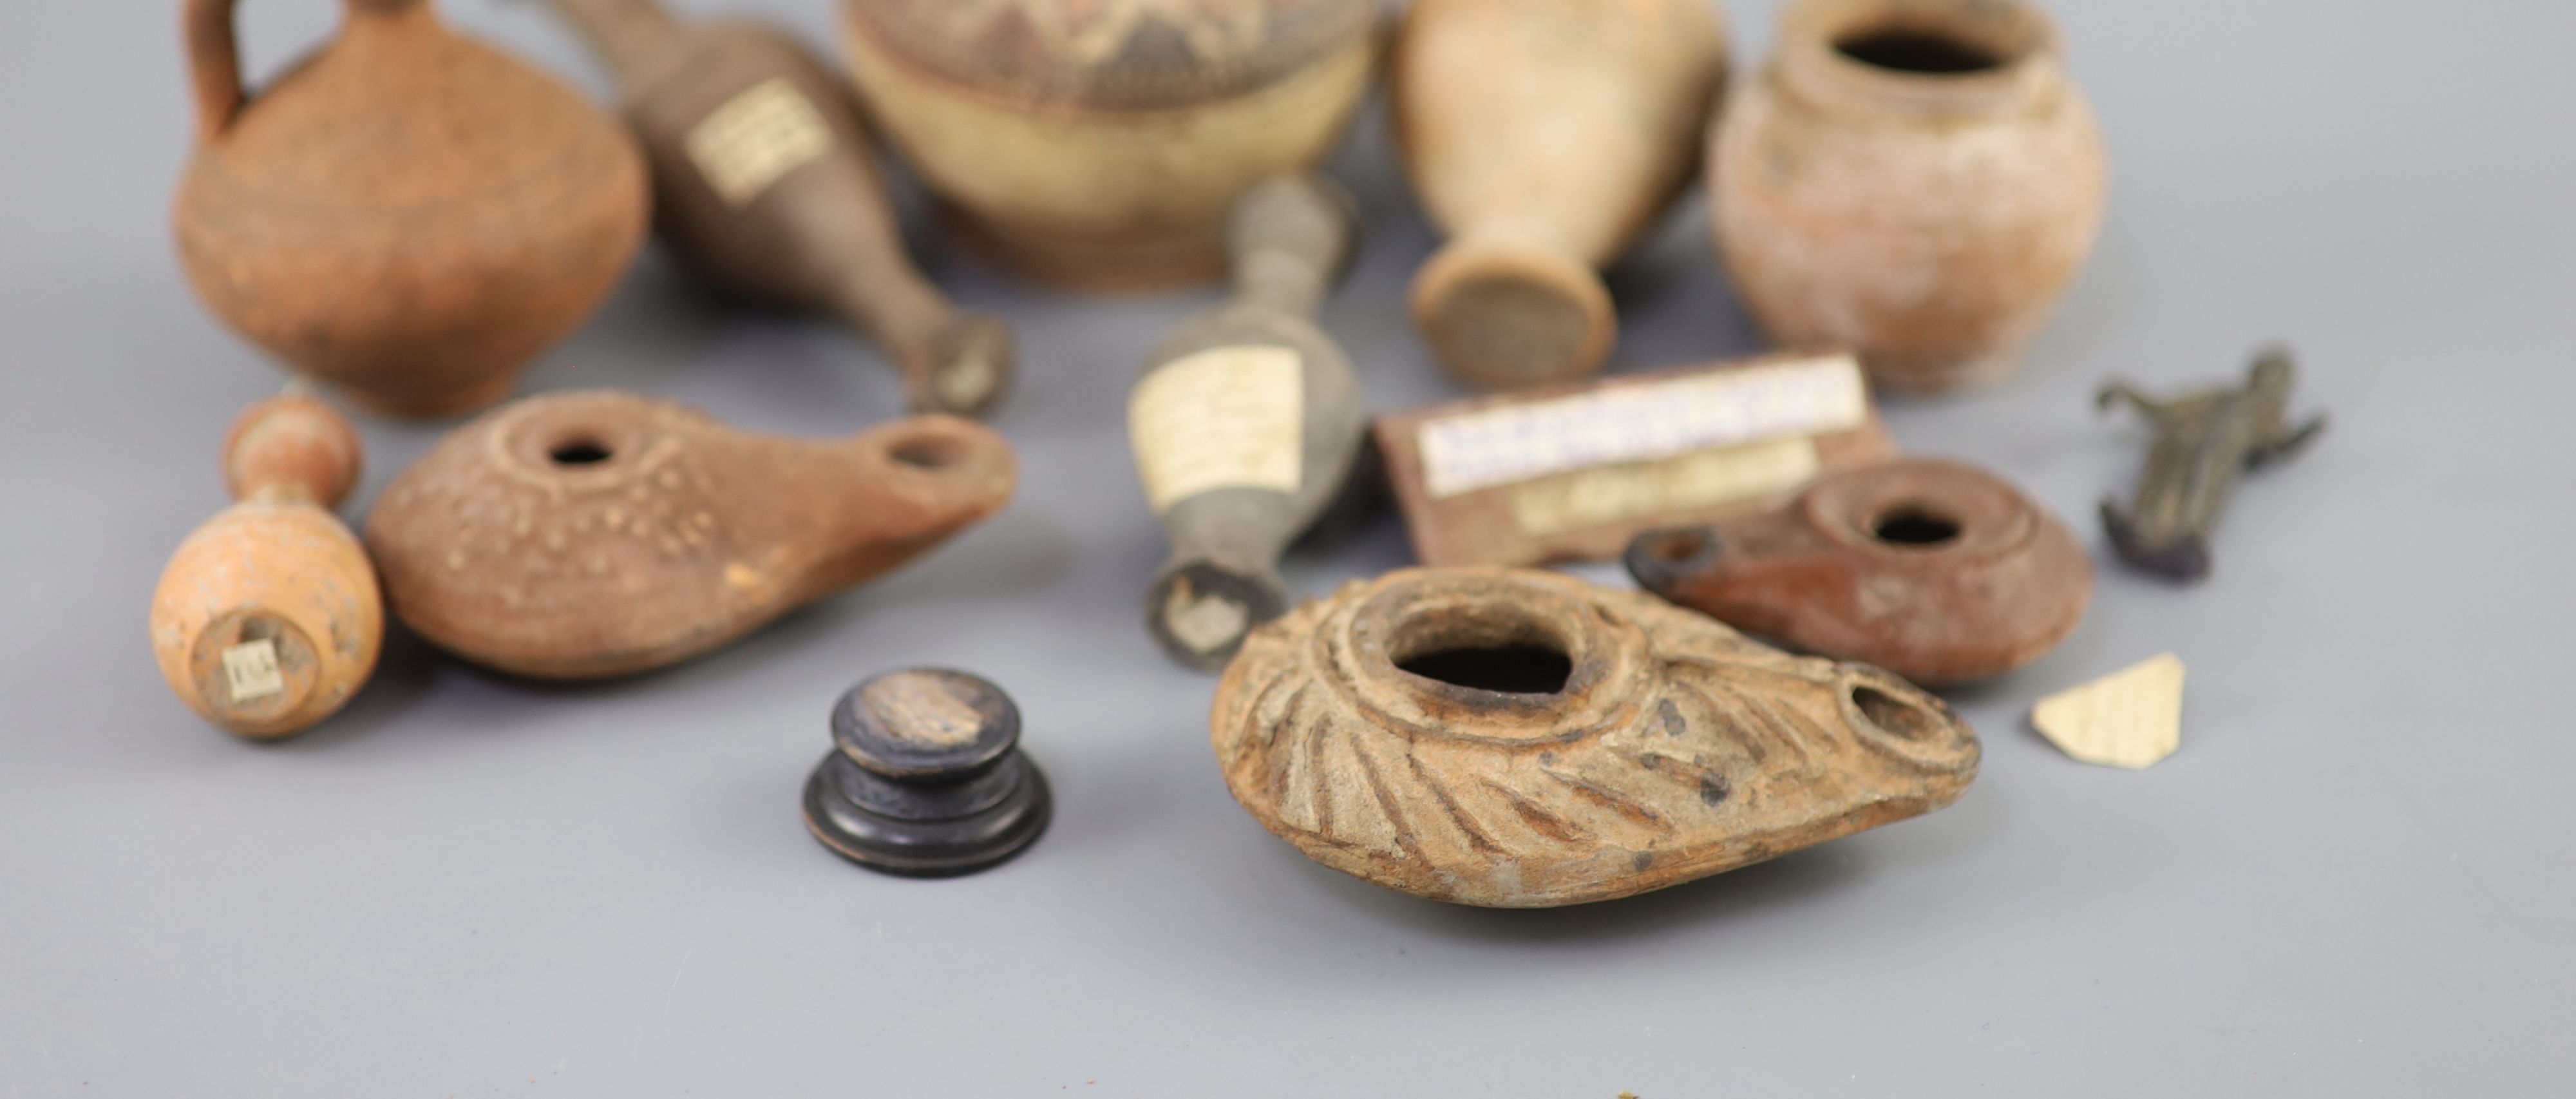
[[412,632],[538,678],[688,660],[994,513],[1002,436],[914,415],[842,441],[760,436],[616,390],[451,431],[366,521]]

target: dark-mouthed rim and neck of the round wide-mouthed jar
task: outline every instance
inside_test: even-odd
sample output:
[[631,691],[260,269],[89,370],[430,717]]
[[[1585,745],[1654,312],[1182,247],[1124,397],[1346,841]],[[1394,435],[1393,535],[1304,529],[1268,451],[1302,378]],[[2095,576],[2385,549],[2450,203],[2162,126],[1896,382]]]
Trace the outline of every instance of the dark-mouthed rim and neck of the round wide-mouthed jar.
[[2058,28],[2020,0],[1803,0],[1775,77],[1837,114],[1994,119],[2063,88]]

